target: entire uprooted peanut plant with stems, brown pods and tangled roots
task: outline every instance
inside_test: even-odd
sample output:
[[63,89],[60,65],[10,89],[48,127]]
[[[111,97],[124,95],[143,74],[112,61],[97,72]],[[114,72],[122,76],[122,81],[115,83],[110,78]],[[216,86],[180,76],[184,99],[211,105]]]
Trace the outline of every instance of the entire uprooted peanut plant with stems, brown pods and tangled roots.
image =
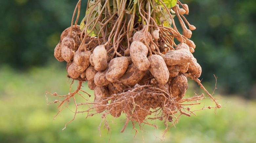
[[[51,102],[58,104],[58,114],[70,99],[75,102],[75,96],[82,96],[79,91],[87,93],[81,88],[84,82],[94,90],[94,102],[75,102],[75,115],[102,113],[108,128],[109,114],[115,118],[125,114],[121,132],[129,121],[135,129],[136,123],[150,124],[147,120],[159,119],[166,126],[165,133],[182,114],[195,115],[184,106],[198,104],[205,97],[202,94],[183,98],[188,79],[196,81],[216,103],[215,107],[206,107],[221,107],[199,80],[202,69],[192,54],[196,45],[189,40],[196,27],[184,16],[189,13],[186,4],[179,0],[90,0],[85,17],[77,25],[80,2],[71,27],[62,32],[54,50],[58,61],[67,62],[68,77],[78,81],[74,92],[52,94],[63,98]],[[175,22],[181,24],[182,34]],[[79,111],[79,106],[89,108]]]

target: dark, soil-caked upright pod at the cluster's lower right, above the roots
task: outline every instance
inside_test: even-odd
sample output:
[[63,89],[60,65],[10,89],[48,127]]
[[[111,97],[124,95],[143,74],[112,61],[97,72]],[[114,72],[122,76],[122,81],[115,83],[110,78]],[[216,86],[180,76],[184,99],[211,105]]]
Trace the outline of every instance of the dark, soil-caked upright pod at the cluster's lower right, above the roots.
[[184,75],[179,75],[175,77],[171,83],[172,96],[176,98],[176,101],[181,100],[186,94],[188,83],[187,78]]

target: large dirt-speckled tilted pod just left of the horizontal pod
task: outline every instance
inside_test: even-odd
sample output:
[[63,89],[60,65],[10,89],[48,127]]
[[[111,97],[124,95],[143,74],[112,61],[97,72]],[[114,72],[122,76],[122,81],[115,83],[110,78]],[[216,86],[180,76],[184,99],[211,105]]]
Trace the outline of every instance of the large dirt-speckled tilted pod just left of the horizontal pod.
[[149,71],[156,78],[157,82],[165,85],[169,79],[168,68],[160,55],[152,55],[148,57],[150,62]]

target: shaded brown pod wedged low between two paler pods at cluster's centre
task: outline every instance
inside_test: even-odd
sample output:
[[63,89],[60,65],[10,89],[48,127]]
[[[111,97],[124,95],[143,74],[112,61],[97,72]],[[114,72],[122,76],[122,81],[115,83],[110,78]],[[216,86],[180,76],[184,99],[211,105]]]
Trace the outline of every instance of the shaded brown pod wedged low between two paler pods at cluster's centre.
[[145,75],[146,71],[140,71],[134,64],[129,65],[119,81],[125,86],[135,86]]

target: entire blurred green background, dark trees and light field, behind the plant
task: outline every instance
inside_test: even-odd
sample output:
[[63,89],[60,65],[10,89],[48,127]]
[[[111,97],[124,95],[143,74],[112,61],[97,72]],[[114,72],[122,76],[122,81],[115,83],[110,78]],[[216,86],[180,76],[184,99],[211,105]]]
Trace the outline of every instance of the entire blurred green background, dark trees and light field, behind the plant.
[[[158,130],[136,137],[131,124],[119,133],[124,121],[110,123],[111,135],[98,126],[100,116],[85,119],[78,114],[73,119],[74,103],[55,120],[55,104],[47,105],[46,93],[69,92],[65,63],[58,62],[53,51],[61,32],[70,26],[76,0],[9,0],[0,1],[0,142],[160,142],[164,125],[157,121]],[[197,27],[191,40],[197,45],[193,55],[202,66],[203,84],[224,108],[197,111],[197,116],[181,116],[176,128],[165,135],[165,142],[185,143],[252,143],[256,140],[256,1],[255,0],[182,0],[189,6],[185,16]],[[87,2],[82,0],[80,20]],[[177,19],[176,19],[177,20]],[[73,86],[74,88],[76,85]],[[84,83],[83,90],[93,94]],[[193,81],[187,96],[204,93]],[[83,94],[86,96],[85,94]],[[48,101],[56,97],[47,95]],[[87,96],[86,96],[87,97]],[[90,99],[93,100],[93,97]],[[77,99],[77,102],[85,102]],[[73,105],[73,106],[72,106]],[[200,109],[214,104],[205,99]],[[82,110],[82,109],[80,109]],[[125,119],[124,116],[121,119]],[[52,121],[53,120],[53,121]],[[139,128],[139,127],[137,127]],[[143,137],[143,138],[142,138]]]

